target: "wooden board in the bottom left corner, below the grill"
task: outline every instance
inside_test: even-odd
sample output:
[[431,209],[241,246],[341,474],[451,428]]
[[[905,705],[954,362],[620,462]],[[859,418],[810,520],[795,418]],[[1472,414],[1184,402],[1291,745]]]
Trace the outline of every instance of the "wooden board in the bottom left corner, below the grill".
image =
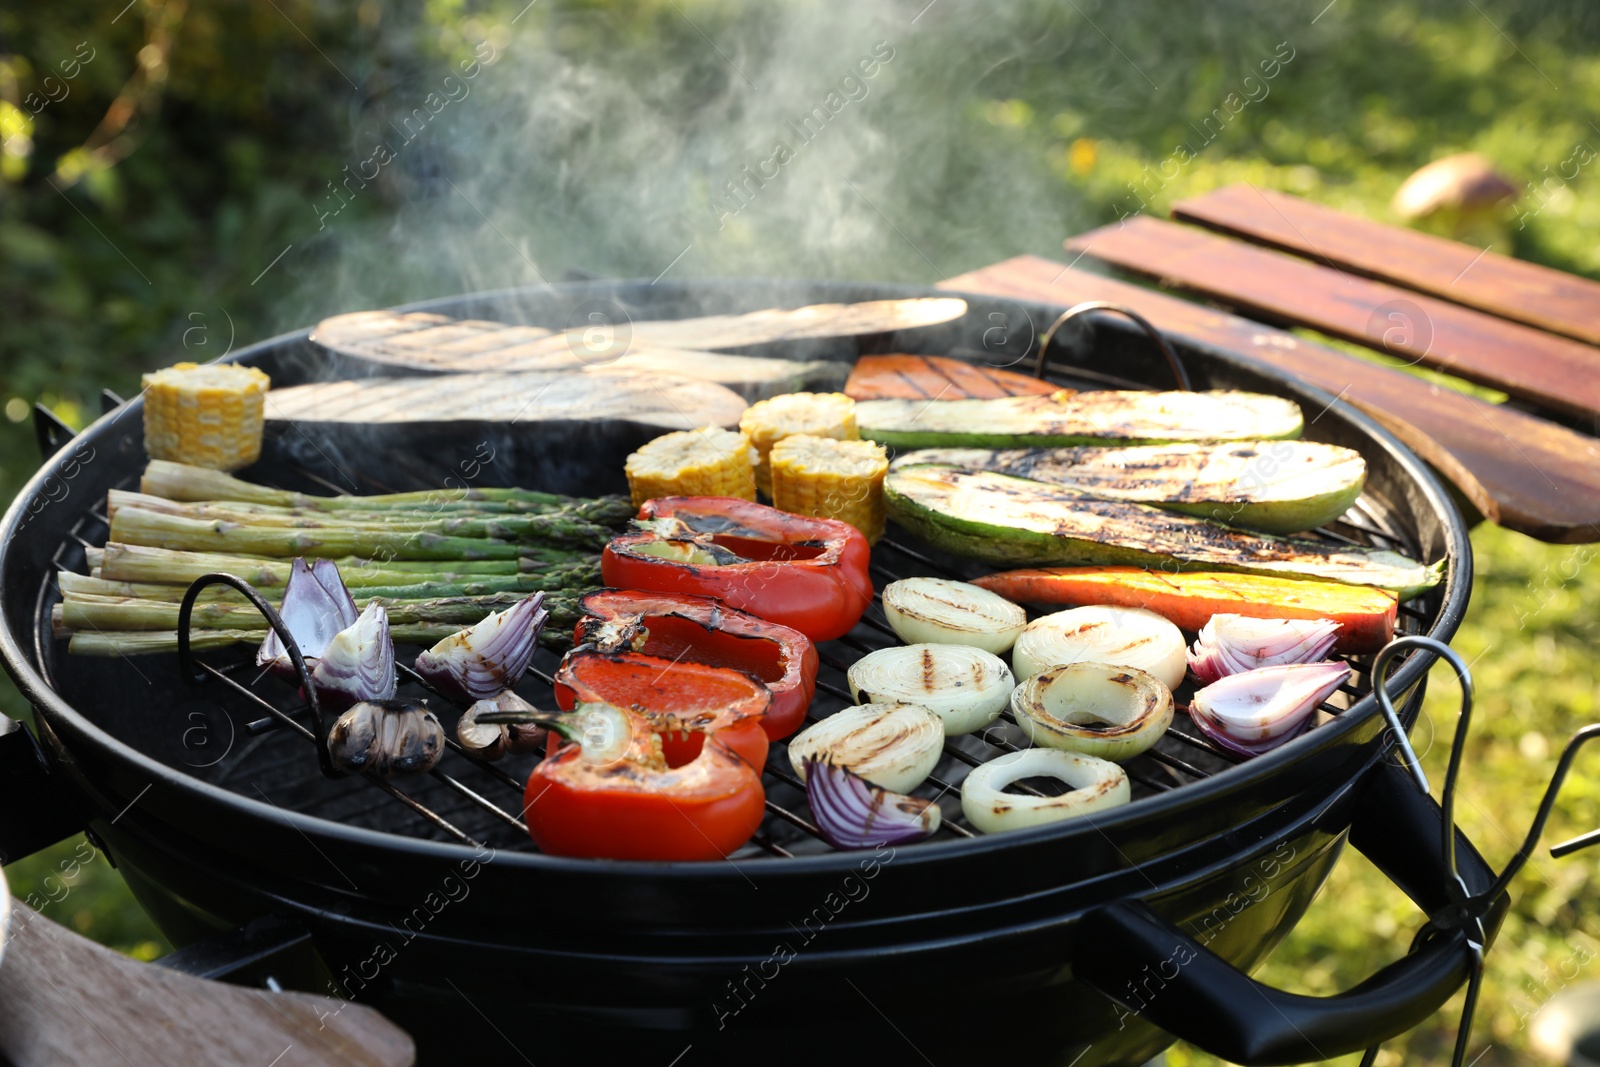
[[11,902],[0,1059],[45,1064],[403,1067],[411,1038],[371,1008],[224,985],[130,960]]

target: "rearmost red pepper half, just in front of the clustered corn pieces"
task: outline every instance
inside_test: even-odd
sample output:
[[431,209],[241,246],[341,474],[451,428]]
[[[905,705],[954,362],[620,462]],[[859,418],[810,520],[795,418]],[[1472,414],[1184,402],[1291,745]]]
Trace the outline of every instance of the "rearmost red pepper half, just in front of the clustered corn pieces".
[[640,531],[600,557],[606,585],[699,593],[794,627],[843,637],[872,603],[867,539],[850,523],[723,496],[664,496]]

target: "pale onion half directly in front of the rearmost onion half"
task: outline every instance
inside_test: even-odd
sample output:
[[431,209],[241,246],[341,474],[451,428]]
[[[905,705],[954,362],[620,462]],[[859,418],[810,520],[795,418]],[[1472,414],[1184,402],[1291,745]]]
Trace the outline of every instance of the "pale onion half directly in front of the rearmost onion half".
[[858,659],[846,677],[851,697],[926,707],[944,720],[946,736],[992,723],[1016,685],[1005,661],[971,645],[880,648]]

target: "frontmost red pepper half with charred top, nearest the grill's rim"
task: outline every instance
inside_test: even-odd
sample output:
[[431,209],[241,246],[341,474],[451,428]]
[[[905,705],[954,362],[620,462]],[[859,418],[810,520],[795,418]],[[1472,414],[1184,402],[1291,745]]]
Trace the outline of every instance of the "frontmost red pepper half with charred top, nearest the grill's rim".
[[[586,709],[579,705],[578,721]],[[528,833],[552,856],[595,859],[720,859],[762,825],[762,776],[715,736],[699,757],[669,768],[653,723],[622,712],[621,752],[563,744],[528,776]],[[570,728],[568,728],[570,729]],[[573,733],[581,733],[573,731]]]

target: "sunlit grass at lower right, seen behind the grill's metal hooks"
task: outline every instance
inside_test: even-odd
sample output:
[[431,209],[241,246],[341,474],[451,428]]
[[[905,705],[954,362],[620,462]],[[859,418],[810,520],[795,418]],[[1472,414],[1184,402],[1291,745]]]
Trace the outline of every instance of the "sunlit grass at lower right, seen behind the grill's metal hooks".
[[[1528,830],[1566,737],[1595,721],[1600,685],[1592,649],[1600,621],[1595,545],[1552,547],[1494,526],[1472,533],[1472,605],[1451,645],[1472,664],[1474,728],[1461,774],[1461,829],[1499,869]],[[1443,784],[1459,696],[1454,673],[1434,669],[1424,717],[1413,733],[1435,797]],[[1546,832],[1546,846],[1600,825],[1600,752],[1581,755]],[[1515,904],[1490,950],[1470,1061],[1528,1062],[1526,1019],[1573,981],[1600,977],[1595,921],[1600,869],[1579,853],[1550,859],[1541,848],[1512,886]],[[1328,995],[1398,958],[1419,926],[1416,907],[1360,853],[1347,849],[1306,920],[1256,977]],[[1565,974],[1565,977],[1563,977]],[[1462,995],[1427,1024],[1390,1041],[1379,1064],[1448,1064]],[[1333,1062],[1355,1064],[1360,1057]],[[1171,1067],[1216,1064],[1179,1046]]]

